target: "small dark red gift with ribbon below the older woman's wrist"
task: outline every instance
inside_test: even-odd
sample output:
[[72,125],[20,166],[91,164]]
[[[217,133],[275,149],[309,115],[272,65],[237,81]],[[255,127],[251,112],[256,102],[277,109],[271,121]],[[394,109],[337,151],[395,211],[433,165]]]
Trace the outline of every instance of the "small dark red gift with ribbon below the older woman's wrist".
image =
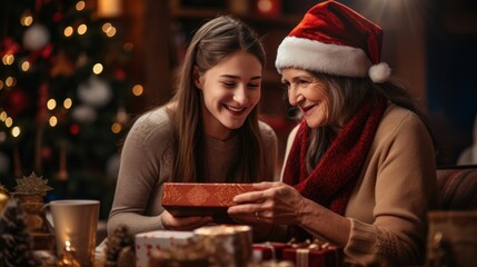
[[284,249],[282,259],[292,261],[296,267],[340,267],[342,249],[319,241],[292,244]]

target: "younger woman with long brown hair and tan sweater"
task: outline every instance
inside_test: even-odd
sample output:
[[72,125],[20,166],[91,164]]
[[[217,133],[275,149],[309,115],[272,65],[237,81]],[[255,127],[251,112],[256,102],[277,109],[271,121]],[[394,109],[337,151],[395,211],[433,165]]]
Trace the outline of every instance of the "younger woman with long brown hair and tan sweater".
[[264,66],[259,38],[235,18],[218,17],[196,32],[175,98],[142,115],[126,138],[109,233],[120,224],[138,234],[213,221],[165,210],[165,181],[274,180],[277,137],[257,115]]

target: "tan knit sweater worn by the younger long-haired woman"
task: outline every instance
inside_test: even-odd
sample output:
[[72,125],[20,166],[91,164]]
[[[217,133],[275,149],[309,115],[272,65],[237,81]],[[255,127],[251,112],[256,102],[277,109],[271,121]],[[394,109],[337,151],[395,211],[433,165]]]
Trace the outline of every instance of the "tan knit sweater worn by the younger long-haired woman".
[[[157,109],[141,116],[129,131],[121,152],[115,200],[108,220],[111,234],[120,224],[131,234],[163,229],[160,215],[162,182],[171,180],[171,121],[167,112]],[[267,180],[272,180],[277,160],[277,137],[266,123],[259,122],[267,166]],[[206,138],[208,182],[222,182],[239,160],[239,138],[226,141]]]

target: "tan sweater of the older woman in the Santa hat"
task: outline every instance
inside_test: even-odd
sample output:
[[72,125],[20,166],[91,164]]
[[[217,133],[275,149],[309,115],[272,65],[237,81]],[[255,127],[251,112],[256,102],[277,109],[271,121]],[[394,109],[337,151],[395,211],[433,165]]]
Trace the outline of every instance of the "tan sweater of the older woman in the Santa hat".
[[[297,129],[288,139],[287,156]],[[435,151],[426,127],[415,113],[389,105],[345,211],[351,221],[346,261],[421,263],[426,216],[436,204],[436,190]]]

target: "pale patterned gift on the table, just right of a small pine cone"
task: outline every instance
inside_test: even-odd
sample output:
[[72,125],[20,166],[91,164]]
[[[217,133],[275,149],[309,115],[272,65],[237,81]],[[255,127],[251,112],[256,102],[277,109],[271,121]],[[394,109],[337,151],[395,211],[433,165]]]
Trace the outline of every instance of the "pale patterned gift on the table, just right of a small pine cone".
[[193,244],[197,237],[192,231],[157,230],[137,234],[135,241],[136,267],[148,267],[153,250]]

